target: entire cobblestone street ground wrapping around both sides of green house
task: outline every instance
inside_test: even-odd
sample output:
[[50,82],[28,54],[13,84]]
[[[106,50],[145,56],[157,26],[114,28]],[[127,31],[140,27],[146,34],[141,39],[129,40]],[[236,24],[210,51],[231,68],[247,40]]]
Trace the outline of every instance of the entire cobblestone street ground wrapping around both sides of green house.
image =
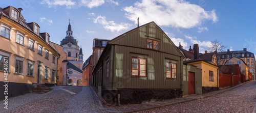
[[[250,81],[232,90],[228,88],[212,94],[116,107],[102,107],[90,87],[56,86],[45,94],[29,93],[9,98],[8,109],[2,109],[4,105],[1,104],[0,112],[252,112],[256,102],[255,86],[256,81]],[[213,96],[207,97],[209,95]],[[201,99],[189,101],[191,98]],[[160,107],[172,102],[182,103]],[[145,110],[150,107],[155,108]]]

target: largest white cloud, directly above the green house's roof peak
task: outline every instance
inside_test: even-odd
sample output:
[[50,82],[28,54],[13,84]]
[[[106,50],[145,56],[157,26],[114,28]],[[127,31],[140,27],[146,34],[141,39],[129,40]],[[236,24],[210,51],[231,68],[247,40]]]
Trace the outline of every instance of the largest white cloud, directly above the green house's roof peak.
[[[142,0],[124,7],[126,18],[140,24],[155,21],[158,25],[189,29],[205,20],[218,21],[215,10],[205,11],[198,5],[179,0]],[[156,18],[161,17],[161,18]]]

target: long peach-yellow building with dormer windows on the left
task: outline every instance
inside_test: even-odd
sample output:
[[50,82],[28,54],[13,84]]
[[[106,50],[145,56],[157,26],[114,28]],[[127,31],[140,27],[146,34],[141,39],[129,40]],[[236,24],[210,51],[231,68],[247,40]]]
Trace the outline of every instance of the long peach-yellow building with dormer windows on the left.
[[49,43],[50,35],[40,33],[36,22],[26,22],[22,8],[12,6],[0,8],[0,26],[0,82],[9,81],[8,95],[28,93],[35,84],[54,86],[59,53]]

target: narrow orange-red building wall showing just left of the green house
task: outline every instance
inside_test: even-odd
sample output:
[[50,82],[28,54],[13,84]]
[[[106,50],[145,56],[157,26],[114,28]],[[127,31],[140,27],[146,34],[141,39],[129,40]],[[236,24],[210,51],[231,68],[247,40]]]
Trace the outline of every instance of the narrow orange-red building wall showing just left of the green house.
[[82,86],[89,86],[92,83],[92,55],[83,63],[82,68]]

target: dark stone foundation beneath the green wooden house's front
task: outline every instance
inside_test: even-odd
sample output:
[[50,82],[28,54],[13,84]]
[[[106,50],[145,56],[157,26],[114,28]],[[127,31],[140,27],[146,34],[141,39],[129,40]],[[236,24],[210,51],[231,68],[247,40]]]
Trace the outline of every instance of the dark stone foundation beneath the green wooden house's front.
[[117,94],[120,94],[120,104],[140,104],[182,97],[181,89],[118,89],[103,90],[102,97],[109,105],[117,105]]

